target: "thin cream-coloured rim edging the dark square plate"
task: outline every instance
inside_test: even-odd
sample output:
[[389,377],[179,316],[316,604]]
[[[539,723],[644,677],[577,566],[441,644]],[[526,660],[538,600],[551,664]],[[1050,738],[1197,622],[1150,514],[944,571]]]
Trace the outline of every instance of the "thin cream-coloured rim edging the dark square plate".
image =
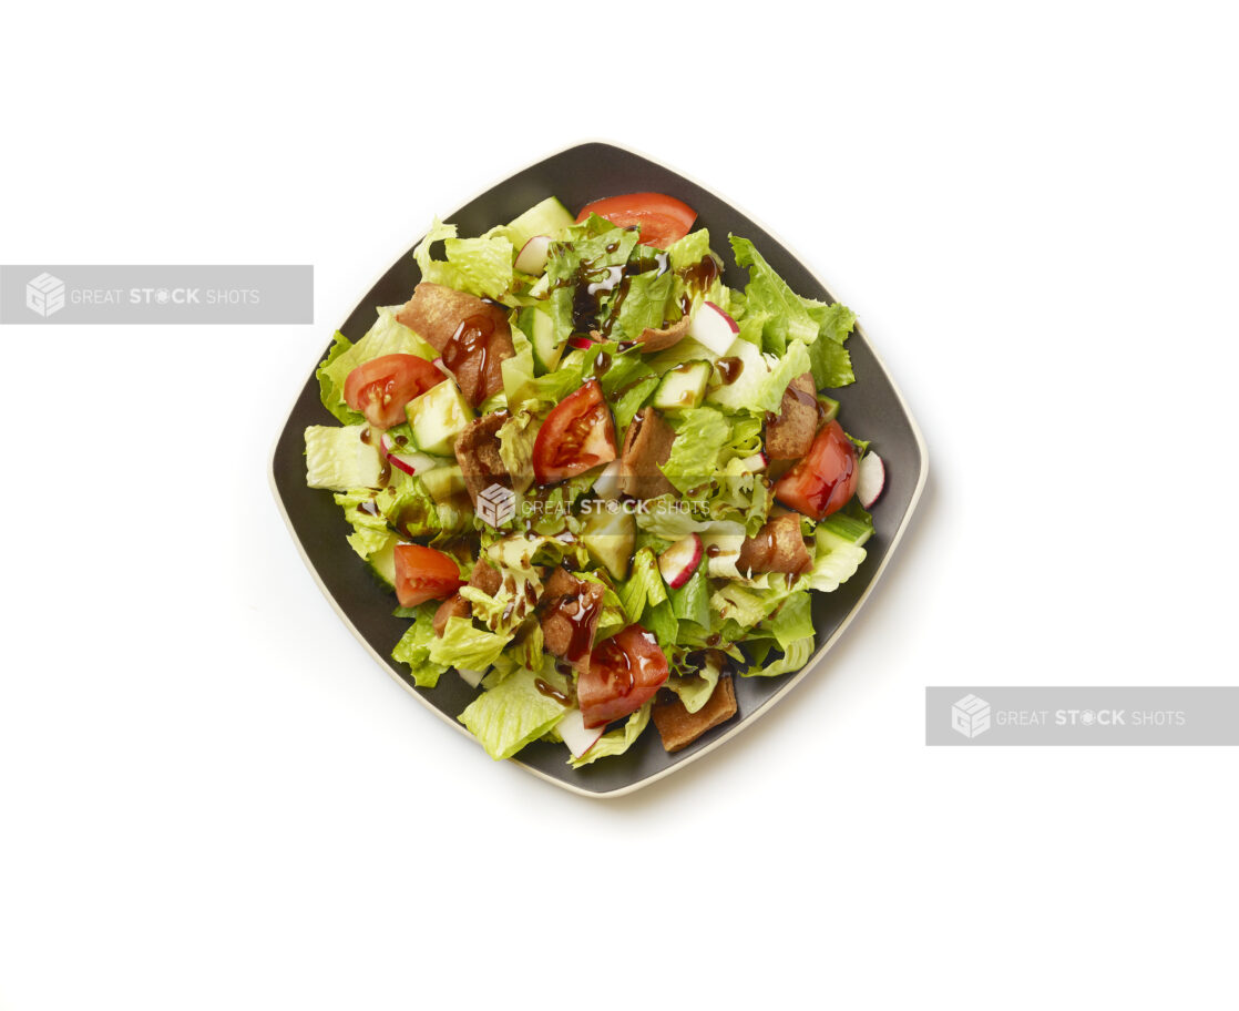
[[[818,276],[818,273],[813,269],[810,261],[807,260],[804,256],[802,256],[798,250],[795,250],[789,243],[787,243],[778,234],[778,232],[776,232],[773,228],[771,228],[768,224],[766,224],[766,222],[763,222],[760,217],[757,217],[755,214],[751,214],[746,208],[743,208],[741,204],[736,203],[735,201],[731,201],[731,199],[724,197],[714,187],[706,186],[704,182],[701,182],[696,177],[689,175],[688,172],[681,172],[674,165],[670,165],[669,162],[663,161],[662,159],[658,159],[658,157],[654,157],[652,155],[648,155],[644,151],[637,150],[636,147],[631,147],[631,146],[628,146],[626,144],[620,144],[620,142],[613,141],[613,140],[608,140],[608,139],[603,139],[603,138],[584,138],[581,140],[572,141],[572,142],[567,144],[566,146],[559,147],[559,149],[556,149],[554,151],[550,151],[549,154],[541,155],[540,157],[535,159],[534,161],[530,161],[530,162],[528,162],[528,164],[525,164],[525,165],[523,165],[523,166],[520,166],[518,168],[513,168],[512,171],[504,173],[503,178],[501,178],[501,180],[498,180],[496,182],[488,183],[486,187],[483,187],[482,190],[479,190],[473,196],[465,198],[461,202],[460,206],[461,207],[466,207],[467,204],[472,203],[478,197],[483,196],[484,193],[487,193],[491,190],[493,190],[496,186],[501,185],[507,178],[512,178],[513,176],[518,176],[522,172],[524,172],[524,171],[527,171],[529,168],[533,168],[536,165],[541,165],[544,161],[550,161],[551,159],[559,157],[560,155],[567,154],[569,151],[574,151],[577,147],[585,147],[585,146],[589,146],[591,144],[600,144],[600,145],[603,145],[603,146],[607,146],[607,147],[615,147],[617,150],[626,151],[627,154],[636,155],[637,157],[644,159],[646,161],[649,161],[649,162],[652,162],[654,165],[658,165],[658,166],[660,166],[660,167],[663,167],[663,168],[665,168],[665,170],[675,173],[676,176],[679,176],[679,177],[681,177],[684,180],[688,180],[693,185],[701,187],[704,191],[706,191],[707,193],[710,193],[712,197],[715,197],[720,202],[727,204],[729,207],[731,207],[735,211],[738,211],[741,214],[743,214],[751,222],[753,222],[753,224],[757,224],[758,227],[761,227],[762,229],[764,229],[766,233],[769,234],[769,237],[772,239],[774,239],[774,242],[779,243],[779,245],[782,245],[788,252],[788,254],[790,254],[797,260],[797,263],[799,263],[800,266],[803,266],[805,269],[805,271],[809,274],[809,276],[812,276],[813,280],[815,280],[819,285],[821,285],[823,290],[830,296],[831,301],[839,301],[839,299],[835,296],[835,294],[830,289],[830,286],[824,280],[821,280],[821,278]],[[403,255],[404,252],[406,252],[406,249],[408,249],[408,247],[405,247],[405,249],[403,249],[398,254],[398,258],[400,255]],[[380,273],[370,282],[370,286],[366,289],[367,294],[369,294],[374,289],[374,286],[384,276],[387,276],[387,273],[392,269],[392,265],[394,263],[396,263],[396,261],[398,260],[394,259],[390,263],[388,263],[387,266],[382,268]],[[358,301],[353,306],[352,312],[356,312],[361,307],[362,307],[362,302]],[[352,312],[349,312],[348,316],[351,316]],[[348,316],[344,316],[344,318],[347,320]],[[648,786],[650,786],[653,783],[657,783],[659,779],[664,779],[668,776],[672,776],[673,773],[676,773],[676,772],[679,772],[683,768],[686,768],[688,766],[690,766],[694,762],[696,762],[699,758],[705,757],[706,755],[709,755],[710,752],[712,752],[715,748],[717,748],[721,745],[724,745],[727,741],[730,741],[732,737],[735,737],[737,733],[740,733],[741,730],[747,730],[752,724],[755,724],[762,716],[767,715],[778,702],[781,702],[788,695],[788,693],[793,688],[795,688],[795,685],[798,685],[808,674],[810,674],[826,658],[826,654],[834,648],[835,643],[839,642],[839,638],[844,634],[844,632],[852,623],[852,621],[855,619],[855,617],[865,607],[865,603],[869,601],[870,595],[873,592],[873,587],[877,586],[878,581],[882,579],[882,575],[886,572],[887,566],[891,564],[891,559],[895,556],[895,553],[898,549],[900,543],[903,540],[903,535],[907,533],[908,525],[912,522],[912,517],[916,514],[917,507],[921,504],[921,497],[922,497],[922,493],[924,492],[926,483],[927,483],[928,477],[929,477],[929,451],[928,451],[928,447],[926,446],[924,436],[921,432],[921,426],[917,424],[916,415],[912,414],[912,410],[908,406],[908,401],[904,399],[903,392],[900,389],[898,383],[895,382],[895,377],[891,374],[891,370],[886,367],[886,362],[882,359],[881,353],[873,346],[872,341],[869,339],[869,333],[865,331],[865,327],[859,321],[856,323],[856,330],[860,332],[861,337],[865,338],[865,343],[869,347],[870,352],[872,353],[873,359],[877,362],[878,368],[882,369],[882,373],[886,375],[887,382],[891,384],[891,390],[895,394],[895,399],[898,403],[900,409],[903,411],[904,418],[908,419],[908,426],[909,426],[909,429],[912,431],[912,437],[913,437],[913,441],[916,442],[917,452],[918,452],[919,458],[921,458],[921,470],[919,470],[919,473],[917,475],[916,487],[912,489],[912,498],[908,501],[908,508],[903,513],[903,519],[900,522],[900,525],[896,528],[895,535],[891,538],[890,544],[887,545],[886,553],[882,556],[882,560],[877,565],[877,570],[872,574],[872,576],[869,580],[869,584],[861,591],[860,596],[856,598],[856,602],[851,606],[851,608],[844,616],[843,621],[840,621],[839,626],[830,634],[830,637],[824,643],[821,643],[820,647],[818,647],[817,652],[809,658],[808,663],[805,663],[804,667],[802,667],[798,672],[795,672],[795,674],[793,674],[790,678],[788,678],[788,680],[784,681],[783,685],[774,694],[772,694],[760,706],[757,706],[757,709],[755,709],[752,712],[745,714],[743,719],[741,719],[740,722],[737,722],[735,726],[729,727],[724,733],[719,735],[715,740],[712,740],[705,747],[701,747],[701,748],[694,751],[691,755],[688,755],[684,758],[681,758],[680,761],[675,762],[674,764],[670,764],[670,766],[668,766],[664,769],[659,769],[655,773],[652,773],[652,774],[646,776],[646,777],[643,777],[641,779],[637,779],[633,783],[627,783],[626,786],[617,787],[616,789],[611,789],[611,790],[589,790],[589,789],[585,789],[584,787],[579,787],[579,786],[576,786],[574,783],[566,782],[564,779],[558,779],[554,776],[549,776],[548,773],[543,772],[541,769],[539,769],[539,768],[536,768],[534,766],[530,766],[527,762],[522,762],[520,758],[517,757],[517,756],[513,756],[512,758],[509,758],[508,759],[509,762],[512,762],[513,764],[520,766],[525,772],[533,773],[539,779],[541,779],[541,781],[544,781],[546,783],[551,783],[551,784],[559,787],[560,789],[565,789],[569,793],[576,794],[579,797],[587,797],[587,798],[591,798],[591,799],[595,799],[595,800],[610,800],[610,799],[617,798],[617,797],[626,797],[628,794],[636,793],[637,790],[639,790],[639,789],[642,789],[644,787],[648,787]],[[312,368],[310,370],[310,378],[313,377],[315,372],[318,368],[318,363],[321,361],[322,361],[322,356],[320,353],[315,358],[313,365],[312,365]],[[465,737],[470,738],[471,741],[473,741],[475,740],[473,735],[470,733],[468,730],[462,724],[460,724],[457,720],[455,720],[451,716],[449,716],[446,712],[444,712],[441,709],[439,709],[434,702],[431,702],[424,695],[421,695],[418,691],[415,691],[414,688],[413,688],[413,685],[410,685],[404,678],[401,678],[399,675],[399,673],[396,673],[392,668],[392,665],[388,663],[387,658],[382,657],[378,653],[378,650],[374,649],[373,646],[370,646],[370,643],[358,631],[357,626],[353,624],[352,619],[348,617],[347,613],[344,613],[343,608],[339,606],[339,602],[336,600],[336,597],[332,595],[332,592],[327,589],[326,584],[322,581],[322,577],[318,575],[318,570],[315,567],[313,562],[310,560],[310,555],[306,554],[305,545],[301,543],[301,538],[297,535],[296,528],[292,525],[292,519],[289,517],[287,508],[284,504],[284,498],[280,494],[279,486],[276,484],[276,481],[275,481],[275,468],[276,468],[276,458],[278,458],[278,452],[279,452],[280,439],[284,435],[284,430],[287,427],[289,419],[292,416],[292,411],[296,409],[297,400],[300,400],[301,393],[305,390],[305,384],[307,382],[309,382],[309,379],[302,380],[301,385],[297,388],[297,392],[294,394],[292,403],[289,405],[289,409],[281,415],[284,418],[284,421],[280,425],[279,431],[275,434],[275,440],[271,444],[271,450],[270,450],[270,453],[268,456],[268,468],[266,468],[268,486],[271,489],[271,497],[275,499],[275,506],[279,509],[280,517],[284,519],[284,525],[287,528],[289,535],[292,538],[292,543],[294,543],[294,545],[297,549],[297,554],[301,556],[301,561],[305,564],[306,569],[310,571],[310,576],[313,579],[315,585],[318,587],[318,590],[323,595],[323,597],[326,597],[327,603],[331,605],[332,610],[336,612],[336,615],[339,617],[339,619],[344,623],[344,627],[349,632],[353,633],[353,638],[356,638],[364,647],[366,652],[369,653],[370,657],[373,657],[374,662],[380,668],[383,668],[383,670],[387,672],[388,676],[390,676],[392,680],[394,680],[398,685],[400,685],[400,688],[403,688],[406,694],[409,694],[414,699],[416,699],[422,706],[425,706],[435,716],[437,716],[440,720],[442,720],[442,722],[447,724],[447,726],[452,727],[453,730],[456,730],[462,736],[465,736]]]

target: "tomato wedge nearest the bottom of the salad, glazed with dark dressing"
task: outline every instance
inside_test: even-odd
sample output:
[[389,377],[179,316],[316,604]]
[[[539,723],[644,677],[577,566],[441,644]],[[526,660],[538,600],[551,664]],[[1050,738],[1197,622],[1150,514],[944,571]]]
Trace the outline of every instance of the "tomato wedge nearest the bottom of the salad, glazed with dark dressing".
[[590,669],[576,683],[576,699],[587,727],[598,727],[636,712],[654,698],[667,675],[658,639],[639,624],[593,647]]

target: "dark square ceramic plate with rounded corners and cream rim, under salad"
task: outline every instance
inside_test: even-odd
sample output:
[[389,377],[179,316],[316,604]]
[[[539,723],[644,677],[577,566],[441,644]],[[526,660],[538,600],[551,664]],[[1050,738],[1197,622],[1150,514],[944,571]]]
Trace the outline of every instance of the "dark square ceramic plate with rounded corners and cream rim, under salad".
[[[743,212],[700,183],[611,144],[580,144],[551,155],[509,176],[463,207],[442,214],[442,219],[458,225],[462,235],[477,235],[497,223],[510,221],[551,195],[567,207],[579,208],[598,197],[638,191],[670,193],[696,208],[699,217],[694,227],[710,229],[711,245],[729,261],[724,271],[729,285],[743,287],[746,278],[746,271],[731,263],[726,237],[732,232],[752,239],[758,252],[798,295],[835,301],[803,261]],[[353,341],[362,337],[374,322],[378,306],[401,304],[413,294],[420,276],[413,260],[414,245],[416,242],[362,297],[339,327],[347,337]],[[881,453],[887,482],[872,510],[875,534],[866,544],[869,556],[865,562],[834,593],[813,595],[818,649],[809,663],[799,672],[777,678],[737,676],[738,714],[675,755],[663,751],[658,733],[649,727],[626,755],[600,759],[581,769],[572,769],[566,763],[567,752],[563,745],[544,742],[529,745],[510,761],[574,793],[590,797],[629,793],[684,768],[730,740],[821,665],[823,658],[865,603],[890,562],[917,507],[927,475],[924,442],[916,421],[860,327],[847,347],[856,382],[831,395],[840,400],[840,418],[845,427],[871,440],[875,451]],[[320,361],[326,353],[325,346]],[[479,747],[456,721],[456,716],[472,701],[475,689],[451,673],[440,679],[434,689],[415,688],[404,665],[390,659],[392,648],[409,622],[392,616],[395,607],[392,591],[378,584],[346,543],[349,527],[331,493],[306,487],[304,431],[307,425],[321,424],[333,424],[333,419],[318,400],[318,383],[311,370],[276,440],[271,460],[271,487],[289,530],[323,593],[374,659],[410,694],[465,735],[473,747]],[[447,761],[455,761],[455,756]]]

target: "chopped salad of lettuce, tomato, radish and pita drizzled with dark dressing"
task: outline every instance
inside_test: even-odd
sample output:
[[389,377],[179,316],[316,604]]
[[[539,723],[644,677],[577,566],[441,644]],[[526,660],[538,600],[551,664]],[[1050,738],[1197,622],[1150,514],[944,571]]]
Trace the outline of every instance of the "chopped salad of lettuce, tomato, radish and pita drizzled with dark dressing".
[[883,466],[828,395],[854,313],[737,235],[730,287],[695,222],[660,193],[436,219],[409,301],[318,367],[338,424],[306,429],[307,481],[409,621],[393,658],[473,686],[494,758],[545,740],[580,767],[650,722],[685,747],[736,715],[733,676],[805,664],[812,595],[865,559]]

